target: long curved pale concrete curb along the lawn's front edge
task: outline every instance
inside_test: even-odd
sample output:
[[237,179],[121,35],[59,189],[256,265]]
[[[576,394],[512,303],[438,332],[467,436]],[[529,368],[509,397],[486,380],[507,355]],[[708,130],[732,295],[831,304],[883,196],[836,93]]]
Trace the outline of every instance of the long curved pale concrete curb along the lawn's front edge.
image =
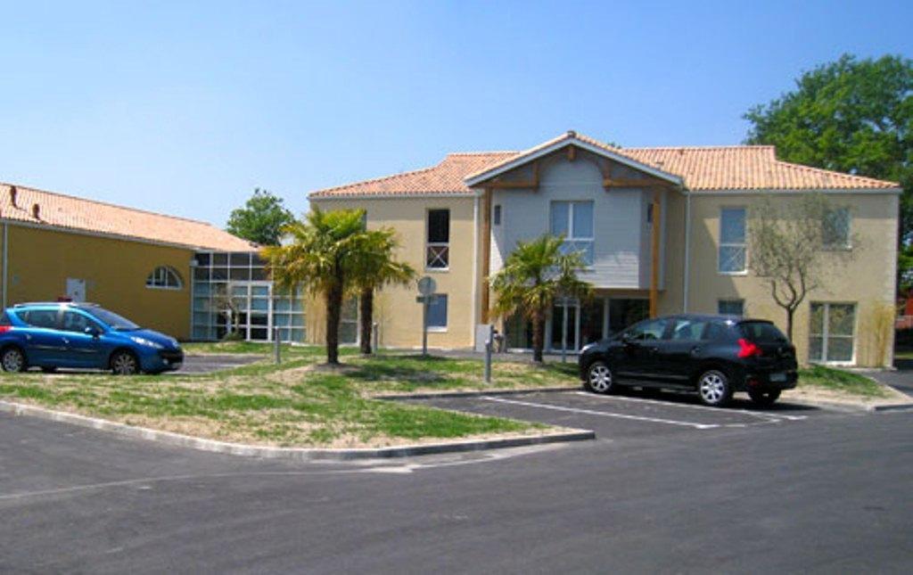
[[115,423],[105,419],[78,415],[76,413],[57,412],[43,407],[0,401],[0,413],[28,415],[54,422],[70,423],[80,427],[90,427],[110,431],[135,439],[144,439],[161,444],[178,447],[189,447],[200,451],[220,454],[242,455],[246,457],[263,457],[293,459],[298,461],[351,461],[353,459],[383,459],[390,457],[409,457],[412,455],[431,455],[481,451],[483,449],[502,449],[524,445],[553,444],[595,439],[596,434],[587,430],[572,430],[551,434],[524,435],[490,440],[468,440],[440,444],[414,444],[394,447],[365,449],[309,449],[302,447],[267,447],[260,445],[232,444],[213,439],[203,439],[191,435],[174,434],[147,427],[136,427],[126,423]]

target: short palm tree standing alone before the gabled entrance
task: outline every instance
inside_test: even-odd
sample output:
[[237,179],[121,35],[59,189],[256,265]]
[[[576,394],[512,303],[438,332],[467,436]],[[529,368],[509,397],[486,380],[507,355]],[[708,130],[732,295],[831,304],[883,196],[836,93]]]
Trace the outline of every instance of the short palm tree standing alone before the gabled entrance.
[[564,254],[563,237],[541,235],[531,242],[517,242],[504,267],[491,278],[494,312],[505,318],[522,313],[532,322],[533,361],[542,362],[545,316],[555,298],[586,298],[592,284],[577,277],[585,264],[579,252]]

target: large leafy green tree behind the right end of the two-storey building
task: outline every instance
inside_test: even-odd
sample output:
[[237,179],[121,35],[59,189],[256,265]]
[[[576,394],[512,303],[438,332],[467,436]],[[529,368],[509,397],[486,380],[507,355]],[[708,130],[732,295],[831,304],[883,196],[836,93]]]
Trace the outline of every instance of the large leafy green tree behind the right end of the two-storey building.
[[913,240],[913,61],[844,55],[744,117],[747,143],[773,144],[782,160],[899,182],[900,242]]

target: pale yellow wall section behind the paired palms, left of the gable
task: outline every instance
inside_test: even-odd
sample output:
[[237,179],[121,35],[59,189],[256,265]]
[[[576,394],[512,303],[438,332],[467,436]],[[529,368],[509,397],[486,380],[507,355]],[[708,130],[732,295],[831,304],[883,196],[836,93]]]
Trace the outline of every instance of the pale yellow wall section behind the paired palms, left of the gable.
[[[418,197],[395,199],[312,200],[321,210],[367,210],[368,228],[393,227],[400,242],[399,257],[415,267],[419,277],[434,277],[437,293],[447,295],[446,331],[428,334],[432,348],[472,346],[473,306],[473,205],[472,197]],[[426,214],[432,209],[450,210],[449,269],[425,269]],[[384,347],[415,348],[422,344],[422,308],[415,302],[415,285],[384,288],[375,298],[374,321],[380,324],[379,339]],[[307,309],[308,340],[323,341],[323,302],[313,300]]]

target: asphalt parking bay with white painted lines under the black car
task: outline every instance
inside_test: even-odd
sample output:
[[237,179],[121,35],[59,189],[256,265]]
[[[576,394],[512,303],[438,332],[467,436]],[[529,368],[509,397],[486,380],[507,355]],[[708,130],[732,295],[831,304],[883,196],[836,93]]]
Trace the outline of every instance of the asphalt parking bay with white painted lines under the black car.
[[728,408],[707,407],[696,396],[664,392],[648,396],[628,391],[614,395],[590,392],[530,392],[509,395],[442,397],[414,400],[460,412],[509,417],[593,430],[597,438],[702,433],[709,430],[788,425],[824,414],[797,403],[755,408],[735,398]]

